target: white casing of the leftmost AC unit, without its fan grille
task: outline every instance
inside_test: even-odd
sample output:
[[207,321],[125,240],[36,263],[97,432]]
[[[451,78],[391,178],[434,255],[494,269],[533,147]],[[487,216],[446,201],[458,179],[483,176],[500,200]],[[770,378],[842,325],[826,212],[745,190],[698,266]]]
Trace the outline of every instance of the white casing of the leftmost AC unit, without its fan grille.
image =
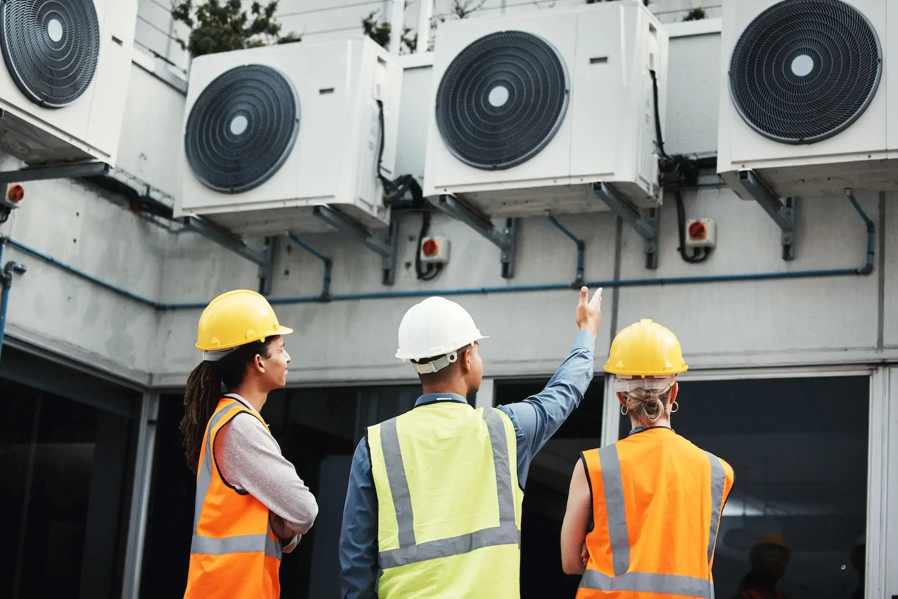
[[131,75],[137,0],[93,0],[100,54],[90,86],[71,104],[44,108],[0,65],[0,146],[28,164],[115,164]]

